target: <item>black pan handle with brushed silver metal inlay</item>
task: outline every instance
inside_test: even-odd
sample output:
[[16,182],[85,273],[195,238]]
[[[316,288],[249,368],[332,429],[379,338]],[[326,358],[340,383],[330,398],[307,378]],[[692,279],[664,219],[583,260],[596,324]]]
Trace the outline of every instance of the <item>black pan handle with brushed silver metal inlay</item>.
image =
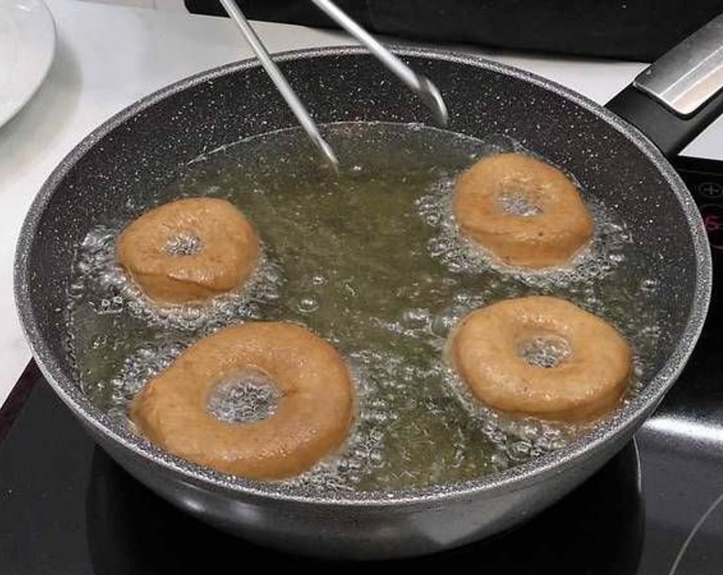
[[723,14],[643,70],[606,106],[665,156],[676,156],[723,112]]

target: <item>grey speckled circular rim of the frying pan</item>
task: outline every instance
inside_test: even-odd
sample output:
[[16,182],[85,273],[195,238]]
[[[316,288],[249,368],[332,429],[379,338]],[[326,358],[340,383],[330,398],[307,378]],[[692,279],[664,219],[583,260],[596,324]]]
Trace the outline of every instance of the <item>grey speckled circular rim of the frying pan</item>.
[[[693,294],[692,307],[683,333],[675,346],[674,351],[656,372],[653,378],[646,383],[646,386],[639,396],[639,401],[632,401],[616,412],[612,417],[602,424],[597,425],[589,435],[573,441],[564,448],[552,453],[528,461],[524,464],[511,467],[502,472],[495,472],[477,480],[469,480],[450,485],[435,485],[432,487],[408,488],[394,491],[370,491],[354,492],[350,497],[345,493],[304,493],[298,487],[283,487],[275,483],[263,483],[246,480],[242,477],[234,477],[213,469],[208,469],[197,464],[192,464],[179,457],[157,448],[147,440],[134,435],[127,430],[121,430],[114,425],[108,417],[100,412],[85,395],[80,391],[73,378],[66,377],[59,362],[49,349],[40,334],[38,325],[35,323],[32,303],[30,301],[30,251],[35,238],[35,231],[38,229],[41,216],[45,212],[46,205],[54,196],[54,191],[60,182],[67,175],[72,166],[80,161],[87,150],[93,148],[103,137],[112,132],[116,127],[136,116],[139,112],[153,106],[168,96],[179,93],[190,86],[199,85],[204,82],[213,81],[215,78],[228,74],[242,72],[246,69],[259,67],[254,59],[243,60],[225,64],[205,72],[200,72],[187,77],[171,85],[161,88],[150,95],[119,111],[111,116],[106,122],[90,132],[78,143],[65,158],[56,166],[56,169],[48,176],[48,179],[41,187],[38,195],[33,200],[27,212],[25,221],[22,224],[20,237],[17,242],[14,261],[14,295],[17,310],[20,315],[20,323],[25,333],[25,338],[30,344],[33,357],[45,376],[48,383],[54,389],[60,399],[69,406],[72,412],[82,419],[82,422],[93,427],[95,433],[105,439],[111,440],[116,446],[124,448],[150,460],[155,465],[161,466],[168,472],[182,477],[196,485],[212,487],[215,490],[233,492],[236,495],[258,497],[264,499],[275,499],[278,501],[289,501],[294,503],[310,503],[315,506],[320,504],[332,506],[364,506],[381,507],[389,506],[416,506],[419,504],[435,502],[441,503],[450,499],[468,498],[472,495],[487,493],[490,497],[494,493],[506,490],[520,490],[529,487],[537,482],[546,480],[548,477],[559,474],[569,467],[576,467],[594,456],[594,453],[603,448],[606,443],[615,438],[625,437],[631,427],[638,422],[644,421],[652,410],[659,404],[669,388],[675,383],[677,375],[683,370],[685,362],[693,352],[698,336],[703,328],[706,318],[710,297],[712,281],[712,263],[709,243],[707,241],[703,221],[698,208],[690,196],[690,192],[680,179],[680,176],[672,169],[669,162],[662,156],[662,153],[655,145],[635,127],[623,119],[620,119],[612,111],[604,106],[591,101],[589,98],[576,93],[569,88],[552,82],[536,74],[523,71],[505,64],[489,61],[481,56],[460,54],[455,51],[441,50],[439,48],[417,48],[410,46],[393,46],[393,51],[399,56],[422,57],[426,59],[450,61],[455,64],[470,65],[497,72],[504,76],[514,77],[537,85],[546,90],[551,90],[561,95],[568,101],[584,108],[591,114],[598,116],[610,127],[622,133],[630,142],[641,150],[644,156],[659,171],[664,181],[675,194],[681,209],[688,221],[692,236],[693,249],[696,252],[696,290]],[[329,56],[369,56],[368,52],[359,46],[337,46],[332,48],[307,48],[301,50],[287,51],[275,55],[276,61],[294,61],[298,59],[325,58]],[[371,58],[371,56],[369,56]]]

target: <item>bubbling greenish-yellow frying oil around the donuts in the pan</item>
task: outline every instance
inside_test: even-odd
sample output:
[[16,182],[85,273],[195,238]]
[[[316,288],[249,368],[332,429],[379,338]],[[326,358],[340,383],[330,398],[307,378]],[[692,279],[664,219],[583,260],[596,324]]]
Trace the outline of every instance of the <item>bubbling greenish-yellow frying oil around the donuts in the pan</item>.
[[[520,150],[515,142],[416,124],[330,124],[325,135],[342,161],[338,176],[289,129],[215,150],[174,183],[176,197],[227,198],[254,224],[262,263],[242,294],[158,310],[116,264],[114,242],[128,221],[90,230],[67,315],[69,351],[95,404],[132,425],[129,401],[186,346],[241,321],[286,320],[330,341],[359,393],[347,443],[293,482],[389,490],[474,479],[584,432],[480,405],[443,361],[463,315],[528,294],[570,299],[615,325],[636,354],[636,392],[661,337],[657,281],[630,273],[646,269],[645,255],[620,214],[582,189],[596,223],[589,250],[545,273],[503,268],[460,237],[450,208],[458,174],[482,156]],[[223,419],[254,419],[243,398],[236,390],[215,401]]]

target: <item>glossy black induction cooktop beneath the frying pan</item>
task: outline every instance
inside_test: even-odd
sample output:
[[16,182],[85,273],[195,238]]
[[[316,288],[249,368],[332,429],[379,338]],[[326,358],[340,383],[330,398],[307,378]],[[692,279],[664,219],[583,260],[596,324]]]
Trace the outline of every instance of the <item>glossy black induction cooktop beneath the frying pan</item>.
[[[723,162],[680,158],[723,280]],[[716,282],[716,285],[717,282]],[[0,410],[0,575],[221,574],[269,568],[494,574],[723,574],[723,297],[636,438],[560,503],[464,548],[387,563],[284,555],[222,534],[133,480],[30,363]]]

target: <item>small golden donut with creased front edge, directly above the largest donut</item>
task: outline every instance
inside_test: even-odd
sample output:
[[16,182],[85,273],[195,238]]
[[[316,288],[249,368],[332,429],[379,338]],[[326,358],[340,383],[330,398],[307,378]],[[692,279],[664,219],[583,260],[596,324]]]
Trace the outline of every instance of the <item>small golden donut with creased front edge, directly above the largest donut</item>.
[[[199,242],[197,252],[169,250],[182,238]],[[238,289],[254,271],[259,240],[233,204],[212,197],[176,200],[130,223],[116,243],[123,268],[155,302],[202,302]]]

